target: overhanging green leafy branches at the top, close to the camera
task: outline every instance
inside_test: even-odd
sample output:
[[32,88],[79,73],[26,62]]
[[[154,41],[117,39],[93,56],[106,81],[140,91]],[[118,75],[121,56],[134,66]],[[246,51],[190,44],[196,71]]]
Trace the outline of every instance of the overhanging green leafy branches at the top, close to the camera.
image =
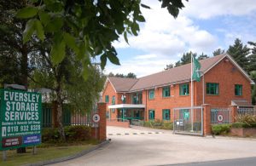
[[[31,1],[32,4],[20,9],[16,16],[29,19],[23,32],[23,42],[29,41],[33,34],[44,41],[52,41],[50,57],[54,65],[61,63],[69,48],[83,64],[84,75],[90,66],[90,57],[101,57],[102,69],[107,59],[119,65],[113,41],[124,35],[137,36],[139,22],[145,19],[140,7],[150,9],[139,0],[106,0],[106,1]],[[160,0],[161,7],[177,17],[183,9],[182,0]]]

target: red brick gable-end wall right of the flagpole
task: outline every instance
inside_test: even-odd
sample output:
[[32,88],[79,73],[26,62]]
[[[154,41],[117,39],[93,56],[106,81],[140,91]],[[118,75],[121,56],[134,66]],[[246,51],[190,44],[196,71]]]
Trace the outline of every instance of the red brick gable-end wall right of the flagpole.
[[[219,83],[219,94],[207,94],[207,83]],[[235,95],[235,84],[242,85],[242,95]],[[202,104],[202,79],[196,83],[195,105]],[[230,61],[222,60],[205,75],[205,104],[230,106],[231,100],[245,99],[251,103],[251,85],[246,77]]]

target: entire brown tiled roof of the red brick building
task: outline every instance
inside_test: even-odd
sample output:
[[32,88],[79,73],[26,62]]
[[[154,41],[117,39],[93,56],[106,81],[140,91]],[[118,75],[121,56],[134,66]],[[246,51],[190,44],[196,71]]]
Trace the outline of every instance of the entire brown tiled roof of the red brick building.
[[[205,60],[200,60],[201,63],[201,72],[206,74],[212,69],[213,66],[216,66],[218,62],[227,57],[241,73],[247,77],[250,83],[253,84],[253,80],[248,77],[247,73],[244,72],[240,66],[237,65],[236,61],[233,60],[229,54],[219,54],[212,58],[207,58]],[[156,87],[163,87],[175,83],[184,83],[188,82],[191,77],[191,64],[186,64],[183,66],[177,66],[172,69],[157,72],[145,77],[135,78],[123,78],[123,77],[108,77],[110,83],[113,84],[113,88],[117,92],[135,92],[143,89],[154,89]]]

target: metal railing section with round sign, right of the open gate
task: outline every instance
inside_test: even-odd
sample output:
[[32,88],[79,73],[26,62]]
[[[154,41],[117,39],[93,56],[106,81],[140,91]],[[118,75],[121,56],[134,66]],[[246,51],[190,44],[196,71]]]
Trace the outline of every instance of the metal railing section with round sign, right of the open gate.
[[211,123],[232,123],[232,112],[229,107],[211,108]]

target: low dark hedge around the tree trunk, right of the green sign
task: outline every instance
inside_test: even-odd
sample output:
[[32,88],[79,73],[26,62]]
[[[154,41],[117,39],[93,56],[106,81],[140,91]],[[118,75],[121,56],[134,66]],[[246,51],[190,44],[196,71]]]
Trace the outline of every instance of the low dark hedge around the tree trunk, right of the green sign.
[[[66,126],[64,130],[68,142],[91,139],[90,127],[88,126]],[[43,143],[60,143],[61,141],[61,135],[57,128],[47,128],[42,130]]]

